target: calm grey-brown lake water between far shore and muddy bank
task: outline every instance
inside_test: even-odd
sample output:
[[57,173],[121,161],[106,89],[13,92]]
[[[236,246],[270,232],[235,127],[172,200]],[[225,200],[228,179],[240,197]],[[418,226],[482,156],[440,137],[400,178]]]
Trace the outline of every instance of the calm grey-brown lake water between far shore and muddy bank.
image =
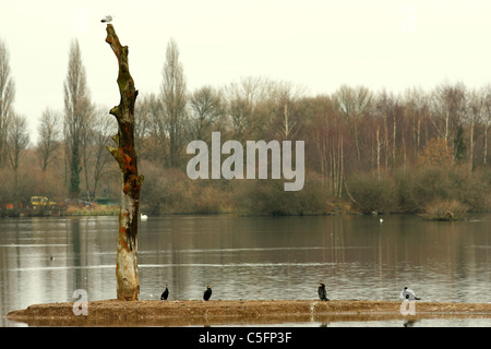
[[[0,325],[46,302],[116,298],[117,217],[0,219]],[[417,216],[171,216],[141,221],[140,299],[398,300],[491,302],[491,215],[464,221]],[[52,260],[50,258],[52,256]],[[288,324],[319,326],[318,323]],[[403,326],[404,321],[330,326]],[[421,320],[415,326],[491,326],[489,318]]]

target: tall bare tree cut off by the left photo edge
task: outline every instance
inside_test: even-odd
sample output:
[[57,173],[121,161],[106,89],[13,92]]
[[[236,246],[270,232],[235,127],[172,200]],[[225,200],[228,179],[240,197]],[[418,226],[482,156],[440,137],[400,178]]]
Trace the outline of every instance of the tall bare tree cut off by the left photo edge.
[[14,97],[15,83],[10,75],[10,53],[0,38],[0,166],[5,163],[7,133]]

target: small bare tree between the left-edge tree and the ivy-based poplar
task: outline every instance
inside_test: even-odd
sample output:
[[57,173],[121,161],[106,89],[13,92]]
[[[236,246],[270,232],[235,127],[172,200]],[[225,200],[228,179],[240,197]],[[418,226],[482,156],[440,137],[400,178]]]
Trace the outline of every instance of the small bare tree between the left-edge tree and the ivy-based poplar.
[[57,111],[46,108],[39,120],[37,129],[39,141],[36,153],[39,157],[39,165],[45,172],[48,166],[55,160],[55,153],[60,145],[60,116]]

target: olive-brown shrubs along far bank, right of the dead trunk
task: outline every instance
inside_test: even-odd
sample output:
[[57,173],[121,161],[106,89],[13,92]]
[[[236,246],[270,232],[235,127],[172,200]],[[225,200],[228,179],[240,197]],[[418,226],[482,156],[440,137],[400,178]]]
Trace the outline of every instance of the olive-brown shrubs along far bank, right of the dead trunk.
[[463,215],[491,210],[491,171],[465,167],[398,169],[359,173],[340,195],[328,180],[306,173],[301,191],[284,191],[284,180],[191,180],[178,170],[145,173],[142,210],[149,214],[326,215],[383,213]]

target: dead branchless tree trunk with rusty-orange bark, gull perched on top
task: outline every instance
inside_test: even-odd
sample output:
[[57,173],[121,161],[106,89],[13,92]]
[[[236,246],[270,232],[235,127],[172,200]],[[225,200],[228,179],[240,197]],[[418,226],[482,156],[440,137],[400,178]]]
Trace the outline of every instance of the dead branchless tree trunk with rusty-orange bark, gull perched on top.
[[111,24],[106,28],[108,43],[118,58],[118,86],[121,100],[109,113],[118,121],[118,134],[112,137],[117,148],[107,147],[121,169],[122,192],[119,213],[118,255],[116,264],[117,296],[120,300],[137,300],[140,293],[137,269],[137,222],[140,189],[143,176],[139,176],[137,157],[134,149],[134,88],[128,65],[128,46],[121,46]]

